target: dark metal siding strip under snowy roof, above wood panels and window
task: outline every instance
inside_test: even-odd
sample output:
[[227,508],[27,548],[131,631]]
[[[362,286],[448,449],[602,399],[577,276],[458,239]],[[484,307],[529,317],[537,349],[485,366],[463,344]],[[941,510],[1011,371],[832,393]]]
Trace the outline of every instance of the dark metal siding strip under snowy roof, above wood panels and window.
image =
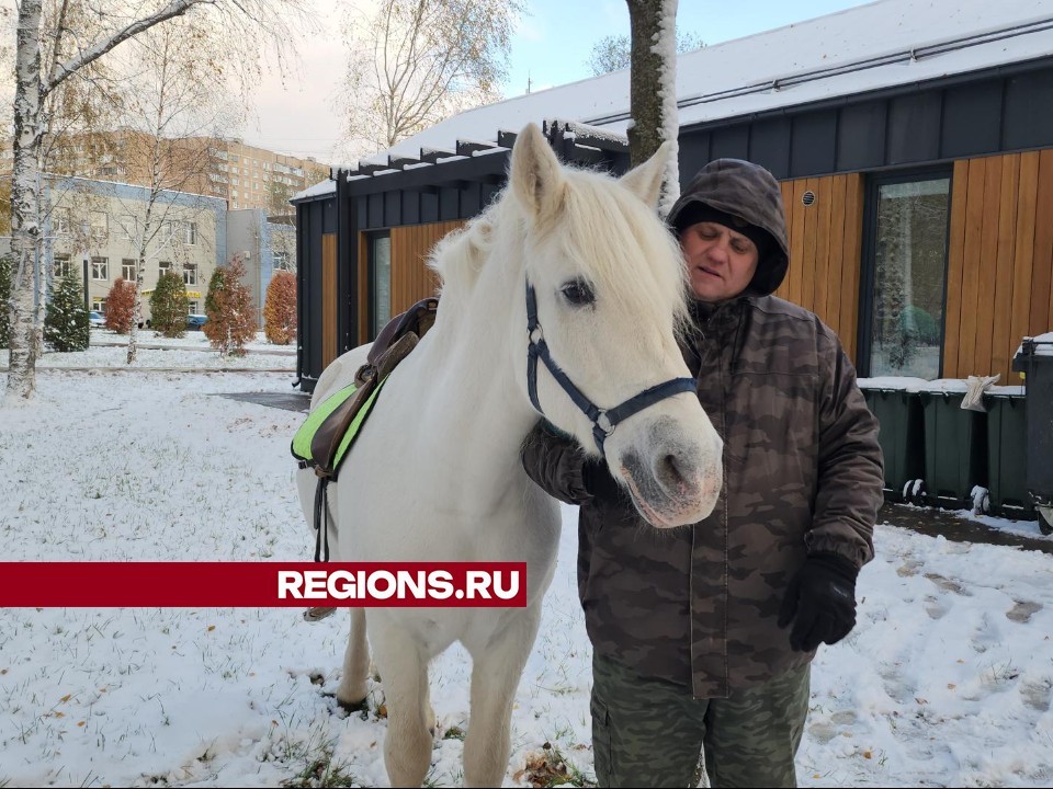
[[680,183],[721,157],[784,180],[1053,147],[1051,61],[683,127]]

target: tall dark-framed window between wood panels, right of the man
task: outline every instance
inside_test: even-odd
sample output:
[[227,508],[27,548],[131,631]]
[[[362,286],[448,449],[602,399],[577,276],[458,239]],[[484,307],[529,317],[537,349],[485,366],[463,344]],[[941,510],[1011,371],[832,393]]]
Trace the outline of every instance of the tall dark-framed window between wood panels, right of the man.
[[949,174],[870,185],[860,361],[864,375],[942,375]]

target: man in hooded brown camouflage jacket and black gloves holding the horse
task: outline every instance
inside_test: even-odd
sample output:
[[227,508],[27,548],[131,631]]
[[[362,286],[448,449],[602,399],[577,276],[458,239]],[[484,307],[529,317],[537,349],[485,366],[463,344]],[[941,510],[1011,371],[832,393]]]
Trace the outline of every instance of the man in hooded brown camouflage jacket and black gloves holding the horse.
[[523,466],[580,504],[601,786],[795,786],[811,662],[856,624],[882,499],[878,424],[837,336],[771,296],[789,264],[779,184],[704,167],[669,215],[697,331],[684,358],[724,439],[724,489],[691,527],[643,526],[607,467],[535,430]]

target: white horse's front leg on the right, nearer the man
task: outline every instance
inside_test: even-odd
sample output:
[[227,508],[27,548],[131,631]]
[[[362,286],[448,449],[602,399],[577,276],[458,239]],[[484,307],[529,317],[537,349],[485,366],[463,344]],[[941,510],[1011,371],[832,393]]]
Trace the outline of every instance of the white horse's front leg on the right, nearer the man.
[[472,698],[464,739],[464,785],[500,786],[511,750],[512,701],[537,636],[541,608],[534,606],[472,652]]

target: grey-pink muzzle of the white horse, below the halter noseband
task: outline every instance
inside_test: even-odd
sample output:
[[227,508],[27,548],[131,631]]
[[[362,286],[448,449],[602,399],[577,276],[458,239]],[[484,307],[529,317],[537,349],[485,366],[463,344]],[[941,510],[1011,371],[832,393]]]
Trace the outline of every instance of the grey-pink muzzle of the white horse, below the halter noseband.
[[702,441],[686,441],[667,420],[658,420],[647,433],[650,441],[627,448],[616,468],[639,514],[655,528],[707,517],[724,484],[723,443],[715,431]]

